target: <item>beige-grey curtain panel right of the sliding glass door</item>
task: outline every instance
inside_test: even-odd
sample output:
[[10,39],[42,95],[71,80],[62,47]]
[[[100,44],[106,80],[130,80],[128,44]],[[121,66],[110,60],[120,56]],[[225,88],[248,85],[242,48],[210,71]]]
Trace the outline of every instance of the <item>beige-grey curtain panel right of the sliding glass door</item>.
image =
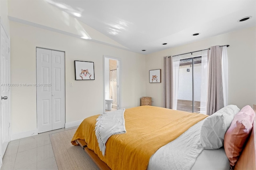
[[208,50],[208,95],[207,115],[212,115],[224,107],[222,85],[222,47],[219,45]]

